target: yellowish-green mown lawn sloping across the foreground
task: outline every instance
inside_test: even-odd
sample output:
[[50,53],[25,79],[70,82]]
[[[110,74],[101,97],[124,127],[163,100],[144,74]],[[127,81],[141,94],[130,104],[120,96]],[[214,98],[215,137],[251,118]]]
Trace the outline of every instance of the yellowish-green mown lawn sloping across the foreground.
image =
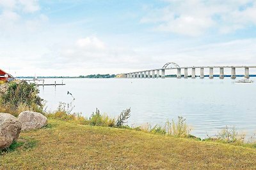
[[256,169],[255,148],[62,120],[24,140],[0,155],[0,169]]

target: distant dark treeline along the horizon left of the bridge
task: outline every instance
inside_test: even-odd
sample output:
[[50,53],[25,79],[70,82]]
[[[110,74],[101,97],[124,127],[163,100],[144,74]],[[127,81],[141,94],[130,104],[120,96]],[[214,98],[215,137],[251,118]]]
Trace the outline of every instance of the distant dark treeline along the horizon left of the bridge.
[[[87,76],[38,76],[37,78],[115,78],[115,74],[90,74]],[[16,78],[35,78],[33,76],[17,76]]]

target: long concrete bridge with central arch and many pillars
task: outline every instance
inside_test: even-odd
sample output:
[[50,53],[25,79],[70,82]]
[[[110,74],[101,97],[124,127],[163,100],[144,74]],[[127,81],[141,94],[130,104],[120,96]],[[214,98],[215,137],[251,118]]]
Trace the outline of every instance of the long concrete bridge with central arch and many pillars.
[[[165,71],[169,69],[176,69],[177,78],[181,78],[181,70],[184,69],[184,78],[188,78],[188,69],[191,69],[191,78],[196,78],[196,69],[200,69],[200,78],[205,77],[205,69],[209,69],[209,78],[214,78],[214,69],[219,69],[219,78],[224,78],[224,69],[231,68],[230,78],[236,78],[236,69],[244,68],[244,78],[250,78],[249,69],[256,68],[256,66],[193,66],[193,67],[180,67],[175,62],[167,62],[161,69],[149,69],[144,71],[136,71],[132,73],[123,74],[124,78],[165,78]],[[161,72],[161,74],[160,74]]]

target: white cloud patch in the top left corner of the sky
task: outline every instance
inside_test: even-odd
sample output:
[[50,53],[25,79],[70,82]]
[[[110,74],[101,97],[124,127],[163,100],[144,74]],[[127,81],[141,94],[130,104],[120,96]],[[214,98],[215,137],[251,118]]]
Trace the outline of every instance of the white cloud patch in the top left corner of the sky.
[[36,0],[0,0],[0,34],[26,35],[29,31],[38,31],[49,18],[38,12],[40,6]]

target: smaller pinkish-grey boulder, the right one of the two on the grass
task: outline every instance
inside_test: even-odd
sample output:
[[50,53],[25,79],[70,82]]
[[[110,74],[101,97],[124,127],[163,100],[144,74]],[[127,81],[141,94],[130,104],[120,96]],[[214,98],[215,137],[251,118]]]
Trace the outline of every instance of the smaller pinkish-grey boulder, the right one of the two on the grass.
[[19,114],[19,121],[22,124],[21,131],[40,129],[47,125],[47,118],[41,113],[23,111]]

